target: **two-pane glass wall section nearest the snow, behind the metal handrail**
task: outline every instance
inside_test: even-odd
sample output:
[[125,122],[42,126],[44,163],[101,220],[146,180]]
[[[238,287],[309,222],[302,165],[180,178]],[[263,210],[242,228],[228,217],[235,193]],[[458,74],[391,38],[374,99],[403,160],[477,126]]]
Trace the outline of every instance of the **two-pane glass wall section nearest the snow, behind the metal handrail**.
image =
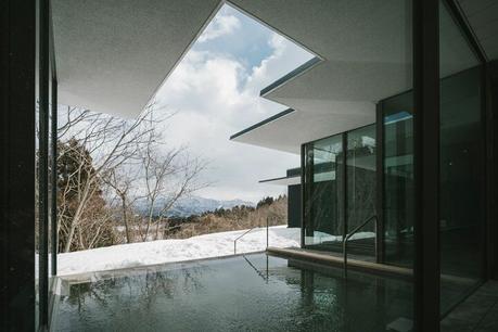
[[[305,150],[305,246],[342,252],[344,235],[375,215],[375,126],[310,142]],[[352,253],[374,256],[373,220],[349,243]]]

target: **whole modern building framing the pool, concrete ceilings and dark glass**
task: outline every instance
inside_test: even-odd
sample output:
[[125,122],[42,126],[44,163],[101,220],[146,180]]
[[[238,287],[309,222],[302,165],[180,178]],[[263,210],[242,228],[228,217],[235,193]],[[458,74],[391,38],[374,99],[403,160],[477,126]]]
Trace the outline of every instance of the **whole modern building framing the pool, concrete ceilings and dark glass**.
[[[498,278],[498,5],[228,2],[316,55],[232,140],[301,155],[302,246],[408,269],[414,329],[438,331]],[[136,116],[222,3],[2,1],[2,330],[49,329],[58,103]]]

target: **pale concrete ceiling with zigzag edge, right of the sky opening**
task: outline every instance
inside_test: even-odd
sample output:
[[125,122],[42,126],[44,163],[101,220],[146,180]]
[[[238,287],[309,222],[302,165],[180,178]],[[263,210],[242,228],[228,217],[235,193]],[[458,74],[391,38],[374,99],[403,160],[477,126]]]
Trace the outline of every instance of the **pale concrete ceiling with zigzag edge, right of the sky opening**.
[[[411,1],[231,2],[321,60],[265,89],[293,113],[234,141],[299,153],[304,142],[374,123],[378,101],[412,88]],[[442,77],[477,64],[444,9],[440,36]]]

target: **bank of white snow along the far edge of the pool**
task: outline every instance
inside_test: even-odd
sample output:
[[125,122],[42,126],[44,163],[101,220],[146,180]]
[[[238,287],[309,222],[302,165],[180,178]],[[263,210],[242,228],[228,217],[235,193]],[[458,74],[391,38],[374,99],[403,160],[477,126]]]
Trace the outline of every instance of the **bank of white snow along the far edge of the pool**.
[[[120,244],[58,255],[58,274],[67,276],[144,265],[233,255],[233,240],[246,230],[210,233],[183,240]],[[269,228],[269,245],[299,246],[301,228]],[[266,248],[266,228],[256,228],[237,242],[237,253]]]

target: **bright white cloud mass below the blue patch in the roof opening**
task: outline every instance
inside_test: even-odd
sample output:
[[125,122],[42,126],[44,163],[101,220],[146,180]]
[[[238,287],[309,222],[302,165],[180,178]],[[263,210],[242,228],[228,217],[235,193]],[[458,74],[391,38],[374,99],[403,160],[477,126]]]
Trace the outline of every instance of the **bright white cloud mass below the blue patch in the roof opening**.
[[214,199],[257,201],[286,188],[258,180],[283,176],[298,166],[297,155],[229,141],[229,137],[285,106],[259,98],[259,90],[310,58],[309,53],[273,35],[273,52],[259,66],[245,68],[230,54],[191,50],[157,94],[177,111],[165,129],[173,144],[188,144],[210,161],[199,194]]

